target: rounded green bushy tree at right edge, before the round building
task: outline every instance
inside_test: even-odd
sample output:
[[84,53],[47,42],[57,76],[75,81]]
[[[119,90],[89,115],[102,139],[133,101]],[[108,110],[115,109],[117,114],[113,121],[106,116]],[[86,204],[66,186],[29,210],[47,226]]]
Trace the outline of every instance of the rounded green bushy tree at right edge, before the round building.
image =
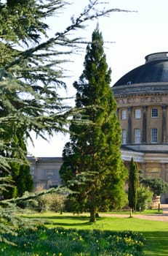
[[149,187],[153,192],[153,196],[161,195],[167,191],[168,184],[162,178],[147,176],[140,181],[143,186]]

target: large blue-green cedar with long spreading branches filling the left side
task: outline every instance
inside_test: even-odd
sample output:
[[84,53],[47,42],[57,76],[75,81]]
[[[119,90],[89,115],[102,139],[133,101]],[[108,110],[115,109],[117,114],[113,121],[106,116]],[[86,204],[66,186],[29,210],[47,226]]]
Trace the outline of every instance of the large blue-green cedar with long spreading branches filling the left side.
[[[68,5],[66,1],[0,1],[0,168],[3,172],[0,195],[12,186],[9,174],[13,180],[16,178],[17,195],[31,189],[24,144],[28,138],[32,141],[32,131],[41,138],[67,132],[68,117],[73,110],[63,102],[58,89],[65,88],[63,64],[83,44],[71,32],[84,27],[87,20],[119,11],[105,10],[104,4],[99,9],[98,4],[97,0],[90,1],[79,17],[72,18],[62,32],[58,26],[58,31],[49,38],[47,18],[62,15],[63,7]],[[25,184],[26,173],[28,184]],[[6,229],[15,230],[15,225],[21,223],[15,215],[15,205],[30,197],[33,196],[0,201],[1,241]]]

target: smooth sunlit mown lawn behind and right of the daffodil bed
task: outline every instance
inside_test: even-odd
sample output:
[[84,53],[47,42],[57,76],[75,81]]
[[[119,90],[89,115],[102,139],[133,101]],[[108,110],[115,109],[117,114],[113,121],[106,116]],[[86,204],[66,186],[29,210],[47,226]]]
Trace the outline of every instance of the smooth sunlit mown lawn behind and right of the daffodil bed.
[[[47,227],[76,228],[83,230],[132,230],[143,233],[145,237],[145,255],[167,256],[168,253],[168,222],[126,217],[100,217],[96,223],[89,223],[89,215],[73,214],[35,214],[30,218],[40,218]],[[136,255],[134,255],[136,256]]]

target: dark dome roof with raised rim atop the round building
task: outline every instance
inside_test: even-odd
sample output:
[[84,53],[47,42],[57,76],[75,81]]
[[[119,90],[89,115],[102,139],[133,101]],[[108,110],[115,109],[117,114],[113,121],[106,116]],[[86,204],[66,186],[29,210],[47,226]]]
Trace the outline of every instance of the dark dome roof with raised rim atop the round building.
[[145,64],[132,69],[113,86],[131,85],[135,83],[167,83],[168,52],[152,53],[146,56],[145,60]]

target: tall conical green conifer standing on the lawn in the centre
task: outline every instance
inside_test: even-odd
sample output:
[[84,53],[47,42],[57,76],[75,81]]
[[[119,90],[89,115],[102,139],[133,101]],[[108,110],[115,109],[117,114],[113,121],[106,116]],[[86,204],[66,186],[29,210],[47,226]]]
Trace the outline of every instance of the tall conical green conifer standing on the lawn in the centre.
[[97,26],[87,45],[84,71],[79,82],[73,83],[76,108],[81,113],[73,117],[71,141],[65,145],[60,168],[63,184],[78,192],[80,206],[87,204],[91,222],[95,222],[96,211],[101,208],[117,208],[125,203],[127,171],[121,161],[121,129],[110,83],[111,69]]

